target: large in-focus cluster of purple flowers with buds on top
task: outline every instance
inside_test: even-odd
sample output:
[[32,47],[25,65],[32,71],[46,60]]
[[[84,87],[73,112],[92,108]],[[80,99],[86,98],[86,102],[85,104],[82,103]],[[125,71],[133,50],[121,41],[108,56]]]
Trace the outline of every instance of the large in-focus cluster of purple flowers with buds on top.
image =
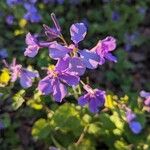
[[[81,82],[87,93],[79,97],[79,105],[88,104],[91,112],[98,112],[99,107],[104,105],[105,92],[99,89],[93,90],[81,81],[80,76],[85,73],[87,68],[96,69],[106,60],[117,62],[116,57],[111,53],[116,48],[116,40],[108,36],[99,40],[92,49],[80,49],[79,43],[84,40],[87,34],[84,23],[71,25],[72,43],[68,44],[62,35],[62,29],[54,13],[51,14],[51,18],[54,22],[54,28],[43,25],[47,41],[39,41],[31,33],[26,35],[25,56],[33,58],[42,48],[48,48],[50,58],[57,61],[56,65],[50,65],[47,68],[47,75],[39,81],[38,90],[43,95],[52,94],[55,101],[61,102],[67,95],[67,86],[74,88]],[[63,43],[58,43],[57,39],[62,40]]]

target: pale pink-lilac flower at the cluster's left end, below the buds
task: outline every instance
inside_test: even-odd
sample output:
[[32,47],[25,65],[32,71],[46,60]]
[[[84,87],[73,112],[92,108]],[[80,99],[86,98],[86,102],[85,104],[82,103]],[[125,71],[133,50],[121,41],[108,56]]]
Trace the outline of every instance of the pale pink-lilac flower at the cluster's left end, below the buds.
[[24,55],[28,57],[36,56],[40,49],[40,46],[37,39],[33,35],[31,35],[31,33],[28,33],[26,35],[26,44],[28,45],[28,47],[26,48]]

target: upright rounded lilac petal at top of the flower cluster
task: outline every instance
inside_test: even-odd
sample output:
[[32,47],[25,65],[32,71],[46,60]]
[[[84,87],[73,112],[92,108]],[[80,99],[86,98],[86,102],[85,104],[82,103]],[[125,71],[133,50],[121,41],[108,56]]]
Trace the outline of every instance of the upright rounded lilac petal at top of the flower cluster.
[[70,27],[71,40],[77,44],[82,41],[87,33],[84,23],[75,23]]

